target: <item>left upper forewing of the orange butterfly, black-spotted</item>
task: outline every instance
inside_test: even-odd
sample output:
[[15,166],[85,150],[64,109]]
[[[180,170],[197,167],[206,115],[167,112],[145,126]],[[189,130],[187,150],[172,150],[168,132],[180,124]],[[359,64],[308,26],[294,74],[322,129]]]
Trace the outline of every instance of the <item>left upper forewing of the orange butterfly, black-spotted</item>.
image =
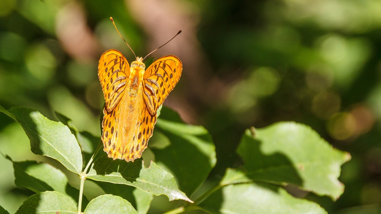
[[98,77],[101,81],[106,110],[110,112],[123,97],[130,77],[130,65],[122,53],[115,49],[104,52],[99,59]]

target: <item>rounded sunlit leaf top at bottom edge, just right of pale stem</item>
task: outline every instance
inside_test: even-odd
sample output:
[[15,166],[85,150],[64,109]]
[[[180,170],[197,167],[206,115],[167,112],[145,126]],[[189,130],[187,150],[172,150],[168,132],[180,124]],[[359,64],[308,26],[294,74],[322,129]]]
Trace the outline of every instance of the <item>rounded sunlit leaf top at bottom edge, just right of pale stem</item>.
[[83,214],[138,214],[130,202],[115,195],[101,195],[87,205]]

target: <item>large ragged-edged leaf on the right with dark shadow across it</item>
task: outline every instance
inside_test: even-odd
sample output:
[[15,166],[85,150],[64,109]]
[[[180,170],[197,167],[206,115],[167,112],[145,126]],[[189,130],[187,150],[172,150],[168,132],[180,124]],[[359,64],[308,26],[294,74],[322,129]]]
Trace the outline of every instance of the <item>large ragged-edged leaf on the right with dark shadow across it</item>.
[[333,148],[309,126],[281,122],[256,129],[254,135],[246,130],[237,149],[250,179],[296,184],[333,200],[343,193],[340,167],[351,156]]

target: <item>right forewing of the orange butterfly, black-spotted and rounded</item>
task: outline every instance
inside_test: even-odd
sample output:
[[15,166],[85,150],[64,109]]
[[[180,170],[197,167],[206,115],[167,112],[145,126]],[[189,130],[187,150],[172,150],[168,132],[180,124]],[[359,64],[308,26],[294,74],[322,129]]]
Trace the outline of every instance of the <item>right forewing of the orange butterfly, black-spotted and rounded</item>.
[[144,72],[144,101],[151,115],[178,83],[182,72],[182,62],[173,55],[161,57],[153,62]]

